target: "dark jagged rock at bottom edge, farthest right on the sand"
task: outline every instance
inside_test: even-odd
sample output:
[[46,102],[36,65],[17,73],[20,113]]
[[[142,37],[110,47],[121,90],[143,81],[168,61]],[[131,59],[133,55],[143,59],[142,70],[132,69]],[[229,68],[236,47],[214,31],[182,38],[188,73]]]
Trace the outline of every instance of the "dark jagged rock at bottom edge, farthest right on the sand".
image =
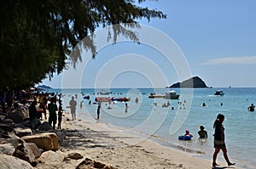
[[118,169],[114,166],[108,166],[99,161],[92,161],[89,158],[85,158],[76,169],[92,169],[92,168],[100,168],[100,169]]

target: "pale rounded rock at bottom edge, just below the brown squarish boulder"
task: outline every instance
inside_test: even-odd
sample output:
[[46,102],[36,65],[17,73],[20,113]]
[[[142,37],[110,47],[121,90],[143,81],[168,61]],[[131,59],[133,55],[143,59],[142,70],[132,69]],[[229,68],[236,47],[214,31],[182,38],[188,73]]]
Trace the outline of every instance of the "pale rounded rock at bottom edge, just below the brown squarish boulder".
[[54,151],[45,151],[36,160],[37,168],[65,168],[64,155]]

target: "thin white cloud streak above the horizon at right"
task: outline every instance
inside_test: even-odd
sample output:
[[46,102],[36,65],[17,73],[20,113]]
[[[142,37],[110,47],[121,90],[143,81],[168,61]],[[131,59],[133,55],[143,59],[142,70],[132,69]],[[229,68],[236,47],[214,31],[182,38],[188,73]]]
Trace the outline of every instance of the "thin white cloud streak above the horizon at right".
[[209,59],[201,65],[245,65],[256,64],[256,56],[240,56],[229,58]]

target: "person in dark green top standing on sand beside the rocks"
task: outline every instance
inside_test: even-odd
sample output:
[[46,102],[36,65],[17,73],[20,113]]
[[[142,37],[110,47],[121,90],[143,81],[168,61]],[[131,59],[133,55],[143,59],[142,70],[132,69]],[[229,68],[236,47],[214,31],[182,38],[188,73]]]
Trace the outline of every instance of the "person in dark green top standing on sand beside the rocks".
[[53,123],[52,127],[55,130],[55,124],[57,122],[56,110],[58,110],[58,107],[55,104],[55,98],[50,98],[50,103],[48,104],[48,110],[49,110],[49,125],[51,126],[51,123]]

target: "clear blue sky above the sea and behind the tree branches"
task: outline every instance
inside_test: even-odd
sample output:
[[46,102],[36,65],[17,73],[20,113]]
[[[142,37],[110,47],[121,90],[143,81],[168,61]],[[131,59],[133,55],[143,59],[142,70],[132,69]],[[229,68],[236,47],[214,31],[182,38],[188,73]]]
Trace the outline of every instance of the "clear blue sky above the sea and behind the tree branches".
[[208,87],[256,87],[256,1],[159,0],[166,20],[139,20],[140,44],[96,32],[96,59],[42,83],[54,88],[166,87],[200,76]]

